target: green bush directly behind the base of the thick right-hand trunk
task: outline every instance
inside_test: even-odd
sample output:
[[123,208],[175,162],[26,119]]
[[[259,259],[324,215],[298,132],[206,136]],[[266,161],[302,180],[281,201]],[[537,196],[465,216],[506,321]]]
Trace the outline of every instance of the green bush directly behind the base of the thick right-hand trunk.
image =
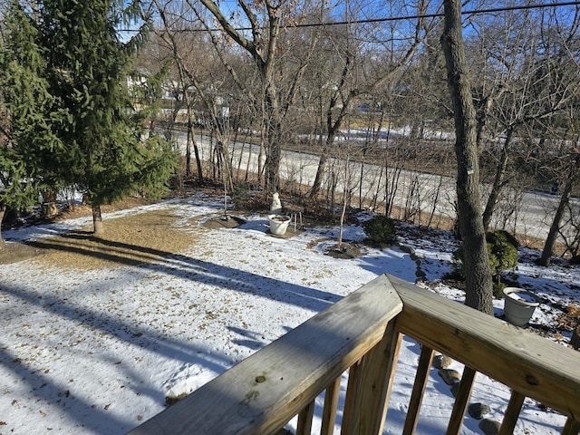
[[[498,230],[488,233],[486,236],[489,266],[491,273],[499,282],[501,273],[504,270],[513,269],[517,266],[517,247],[516,237],[513,237],[507,231]],[[461,276],[465,277],[463,270],[463,247],[459,247],[453,253],[453,257],[458,260],[457,269]]]

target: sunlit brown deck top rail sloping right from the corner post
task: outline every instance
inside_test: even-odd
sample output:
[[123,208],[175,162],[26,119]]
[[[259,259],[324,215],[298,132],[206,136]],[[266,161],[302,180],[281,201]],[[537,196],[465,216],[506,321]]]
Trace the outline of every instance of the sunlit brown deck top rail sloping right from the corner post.
[[[580,353],[390,276],[402,333],[580,419]],[[508,370],[506,370],[508,369]]]

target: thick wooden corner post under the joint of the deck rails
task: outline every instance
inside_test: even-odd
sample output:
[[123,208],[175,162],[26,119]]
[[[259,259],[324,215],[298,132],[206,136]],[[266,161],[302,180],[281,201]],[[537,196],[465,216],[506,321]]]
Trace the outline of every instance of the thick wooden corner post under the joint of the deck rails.
[[362,357],[352,415],[347,420],[348,424],[343,424],[342,433],[382,433],[400,347],[401,334],[393,324],[389,324],[382,341]]

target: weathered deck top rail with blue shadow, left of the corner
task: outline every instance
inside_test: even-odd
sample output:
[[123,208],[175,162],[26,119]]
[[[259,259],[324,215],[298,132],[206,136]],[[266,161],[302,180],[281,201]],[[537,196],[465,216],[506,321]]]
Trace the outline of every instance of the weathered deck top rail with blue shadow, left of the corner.
[[274,433],[379,343],[401,310],[380,276],[130,433]]

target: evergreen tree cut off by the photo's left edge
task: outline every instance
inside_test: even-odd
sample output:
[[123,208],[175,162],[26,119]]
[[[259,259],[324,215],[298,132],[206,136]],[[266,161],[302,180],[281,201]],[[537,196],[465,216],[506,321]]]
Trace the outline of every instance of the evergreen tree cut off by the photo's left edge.
[[[0,46],[0,222],[5,211],[34,205],[39,190],[57,186],[56,174],[44,170],[46,162],[58,166],[63,143],[53,125],[63,121],[63,110],[51,95],[45,51],[40,33],[24,9],[13,1],[6,8]],[[0,248],[4,247],[0,235]]]

